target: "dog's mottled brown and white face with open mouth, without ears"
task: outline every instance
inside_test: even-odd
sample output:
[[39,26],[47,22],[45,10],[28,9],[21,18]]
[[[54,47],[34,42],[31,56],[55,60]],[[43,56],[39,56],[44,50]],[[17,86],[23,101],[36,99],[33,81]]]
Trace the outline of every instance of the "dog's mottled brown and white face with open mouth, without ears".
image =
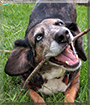
[[67,70],[73,71],[80,67],[81,62],[69,45],[73,35],[62,20],[45,19],[27,36],[35,54],[35,62],[39,63],[45,57],[49,57],[49,62]]

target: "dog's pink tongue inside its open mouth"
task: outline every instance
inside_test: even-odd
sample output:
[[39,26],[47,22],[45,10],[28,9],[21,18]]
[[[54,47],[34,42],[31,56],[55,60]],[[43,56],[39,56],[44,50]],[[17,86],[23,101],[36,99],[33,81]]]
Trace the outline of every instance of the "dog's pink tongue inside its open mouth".
[[56,56],[55,59],[68,65],[73,65],[77,62],[77,58],[70,49],[70,45],[68,45],[62,53]]

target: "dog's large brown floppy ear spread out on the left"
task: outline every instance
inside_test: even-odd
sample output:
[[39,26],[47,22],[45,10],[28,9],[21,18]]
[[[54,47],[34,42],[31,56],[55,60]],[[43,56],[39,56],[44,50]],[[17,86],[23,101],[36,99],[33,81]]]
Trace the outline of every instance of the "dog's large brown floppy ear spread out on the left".
[[16,40],[5,66],[8,75],[16,76],[26,73],[34,65],[33,52],[26,39]]

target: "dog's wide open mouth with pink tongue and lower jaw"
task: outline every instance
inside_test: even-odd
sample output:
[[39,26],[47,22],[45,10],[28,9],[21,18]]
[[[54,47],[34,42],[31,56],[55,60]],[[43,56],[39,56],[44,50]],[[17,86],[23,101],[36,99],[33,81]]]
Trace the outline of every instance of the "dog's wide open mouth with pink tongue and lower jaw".
[[76,55],[75,49],[73,49],[71,45],[68,45],[57,56],[51,57],[50,61],[57,65],[63,65],[63,67],[67,69],[75,69],[80,65],[80,60]]

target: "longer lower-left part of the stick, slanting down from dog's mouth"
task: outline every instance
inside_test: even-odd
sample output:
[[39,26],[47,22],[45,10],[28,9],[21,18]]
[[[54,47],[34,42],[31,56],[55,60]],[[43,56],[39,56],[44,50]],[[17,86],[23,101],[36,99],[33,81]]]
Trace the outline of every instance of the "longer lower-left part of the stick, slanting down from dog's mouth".
[[35,75],[35,73],[42,67],[42,65],[45,63],[45,61],[48,60],[48,58],[44,58],[44,60],[42,60],[37,66],[36,68],[33,70],[33,72],[28,76],[28,78],[26,79],[24,86],[21,90],[21,92],[19,93],[18,97],[16,98],[16,101],[18,100],[19,96],[21,95],[21,93],[25,90],[26,86],[28,85],[29,81],[31,80],[31,78]]

